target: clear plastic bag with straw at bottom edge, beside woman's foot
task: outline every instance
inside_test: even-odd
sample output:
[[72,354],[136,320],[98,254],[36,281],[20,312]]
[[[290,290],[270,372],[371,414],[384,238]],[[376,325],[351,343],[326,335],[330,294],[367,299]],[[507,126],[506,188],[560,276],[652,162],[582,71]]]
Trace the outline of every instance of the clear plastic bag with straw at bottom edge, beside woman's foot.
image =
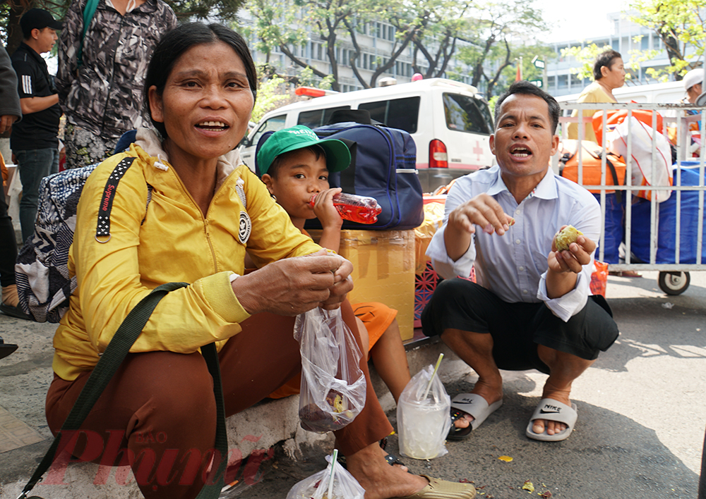
[[[287,499],[363,499],[365,489],[354,479],[353,475],[326,456],[328,467],[294,484],[289,489]],[[328,495],[328,483],[333,467],[333,487]]]

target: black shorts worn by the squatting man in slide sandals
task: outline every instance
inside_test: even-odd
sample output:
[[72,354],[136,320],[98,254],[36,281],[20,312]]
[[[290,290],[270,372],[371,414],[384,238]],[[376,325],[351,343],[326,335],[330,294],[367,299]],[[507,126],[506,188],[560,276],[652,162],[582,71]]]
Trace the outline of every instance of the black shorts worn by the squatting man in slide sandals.
[[586,306],[564,322],[544,302],[503,302],[461,278],[439,283],[421,314],[421,327],[427,336],[441,335],[445,329],[489,333],[499,369],[546,374],[549,367],[539,359],[537,345],[593,360],[618,338],[618,325],[602,296],[590,296]]

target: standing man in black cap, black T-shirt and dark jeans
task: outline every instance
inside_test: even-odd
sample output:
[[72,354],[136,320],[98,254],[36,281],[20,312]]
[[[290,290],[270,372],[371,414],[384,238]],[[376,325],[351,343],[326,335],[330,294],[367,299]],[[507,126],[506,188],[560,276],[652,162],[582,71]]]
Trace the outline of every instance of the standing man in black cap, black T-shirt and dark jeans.
[[52,50],[62,24],[41,8],[32,8],[20,19],[24,41],[12,54],[17,73],[22,121],[10,136],[10,147],[22,181],[20,225],[26,240],[35,230],[37,196],[42,178],[59,171],[59,95],[40,54]]

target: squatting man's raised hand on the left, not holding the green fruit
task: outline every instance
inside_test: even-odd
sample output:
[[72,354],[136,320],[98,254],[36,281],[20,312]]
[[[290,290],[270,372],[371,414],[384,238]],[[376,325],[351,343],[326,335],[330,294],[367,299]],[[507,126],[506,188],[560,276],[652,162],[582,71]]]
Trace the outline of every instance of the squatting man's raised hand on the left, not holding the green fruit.
[[492,196],[479,194],[449,214],[444,232],[446,254],[453,261],[462,257],[468,250],[476,226],[486,233],[503,235],[511,223],[513,218],[505,214]]

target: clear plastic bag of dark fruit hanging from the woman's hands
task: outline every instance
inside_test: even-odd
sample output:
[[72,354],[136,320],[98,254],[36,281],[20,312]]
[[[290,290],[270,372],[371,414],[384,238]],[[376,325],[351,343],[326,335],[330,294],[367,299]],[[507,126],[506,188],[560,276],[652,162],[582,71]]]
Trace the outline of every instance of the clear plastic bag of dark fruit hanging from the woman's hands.
[[307,431],[340,430],[365,405],[361,352],[340,309],[299,314],[294,338],[301,352],[299,420]]

